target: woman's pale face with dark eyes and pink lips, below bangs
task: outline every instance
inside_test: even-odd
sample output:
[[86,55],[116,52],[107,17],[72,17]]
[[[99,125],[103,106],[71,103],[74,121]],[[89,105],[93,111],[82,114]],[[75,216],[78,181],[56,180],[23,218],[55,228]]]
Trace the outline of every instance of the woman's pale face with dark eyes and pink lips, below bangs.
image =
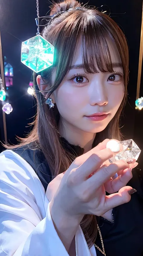
[[[115,44],[107,42],[114,72],[87,74],[82,68],[79,41],[72,69],[53,95],[64,127],[97,133],[103,131],[116,114],[125,92],[123,68]],[[53,81],[55,76],[56,71]]]

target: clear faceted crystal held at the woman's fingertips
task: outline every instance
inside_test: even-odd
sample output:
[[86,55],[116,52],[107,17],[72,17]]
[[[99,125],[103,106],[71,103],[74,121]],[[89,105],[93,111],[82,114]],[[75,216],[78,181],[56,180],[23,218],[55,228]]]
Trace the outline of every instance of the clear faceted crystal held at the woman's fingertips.
[[116,162],[118,160],[124,160],[128,162],[131,159],[138,159],[141,150],[132,139],[124,140],[119,144],[121,144],[123,150],[116,154],[114,157],[110,158],[110,162]]

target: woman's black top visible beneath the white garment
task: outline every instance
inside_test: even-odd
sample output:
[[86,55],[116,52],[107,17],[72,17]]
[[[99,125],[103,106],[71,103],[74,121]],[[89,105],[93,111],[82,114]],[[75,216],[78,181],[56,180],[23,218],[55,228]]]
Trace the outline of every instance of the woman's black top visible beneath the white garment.
[[[72,152],[75,158],[84,153],[84,149],[69,144],[62,138],[63,147]],[[39,149],[27,145],[13,150],[25,159],[37,173],[46,191],[52,180],[49,165]],[[98,218],[106,256],[143,256],[143,174],[141,169],[132,170],[133,178],[127,185],[137,190],[129,203],[113,209],[113,223]],[[97,234],[96,245],[102,249],[100,236]],[[103,254],[96,248],[97,256]]]

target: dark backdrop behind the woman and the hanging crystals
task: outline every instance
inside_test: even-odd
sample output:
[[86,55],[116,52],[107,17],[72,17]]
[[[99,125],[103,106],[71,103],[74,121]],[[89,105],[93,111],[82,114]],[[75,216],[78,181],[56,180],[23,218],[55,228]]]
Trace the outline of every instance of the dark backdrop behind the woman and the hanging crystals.
[[[56,2],[56,1],[55,1]],[[86,3],[84,1],[84,3]],[[40,16],[49,11],[49,3],[39,0]],[[128,103],[121,119],[125,139],[134,139],[143,152],[143,110],[135,110],[138,59],[141,36],[142,0],[100,0],[89,1],[88,5],[107,5],[111,17],[124,31],[129,43],[130,80],[128,85]],[[27,124],[33,121],[36,107],[33,97],[27,93],[32,72],[21,63],[21,42],[36,35],[37,26],[36,0],[0,0],[0,30],[2,37],[3,58],[13,66],[13,87],[6,90],[7,99],[13,112],[6,115],[8,141],[16,144],[16,135],[24,137],[29,131]],[[140,97],[143,96],[143,78],[141,79]],[[2,104],[0,102],[0,140],[4,141]],[[2,146],[0,150],[2,150]],[[143,155],[139,158],[139,167],[143,164]]]

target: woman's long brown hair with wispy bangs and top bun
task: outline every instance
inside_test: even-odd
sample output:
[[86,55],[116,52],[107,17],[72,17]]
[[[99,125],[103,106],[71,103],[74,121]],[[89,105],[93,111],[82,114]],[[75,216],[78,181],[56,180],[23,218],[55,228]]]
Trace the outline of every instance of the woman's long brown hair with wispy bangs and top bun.
[[[121,139],[119,130],[119,117],[127,97],[129,53],[126,38],[117,24],[106,14],[99,12],[96,8],[81,6],[75,0],[65,0],[54,3],[51,6],[50,15],[67,11],[72,8],[81,7],[80,10],[70,10],[54,18],[50,26],[43,30],[43,37],[55,46],[55,57],[53,66],[40,73],[44,82],[49,84],[48,96],[62,83],[63,78],[72,65],[78,39],[82,36],[83,64],[87,73],[113,72],[112,62],[106,36],[115,42],[121,57],[125,95],[123,101],[109,125],[96,135],[96,143],[105,138]],[[53,69],[56,67],[56,78],[51,82]],[[37,98],[37,116],[34,121],[34,128],[24,139],[21,145],[36,142],[45,155],[50,166],[52,175],[64,172],[73,161],[72,155],[65,151],[58,132],[59,111],[56,107],[48,108],[45,104],[45,97],[40,93],[36,83],[37,74],[33,74],[35,83],[35,94]],[[19,145],[18,145],[19,146]],[[9,148],[15,148],[11,146]],[[97,221],[93,215],[85,215],[81,222],[88,247],[95,242],[97,234]]]

